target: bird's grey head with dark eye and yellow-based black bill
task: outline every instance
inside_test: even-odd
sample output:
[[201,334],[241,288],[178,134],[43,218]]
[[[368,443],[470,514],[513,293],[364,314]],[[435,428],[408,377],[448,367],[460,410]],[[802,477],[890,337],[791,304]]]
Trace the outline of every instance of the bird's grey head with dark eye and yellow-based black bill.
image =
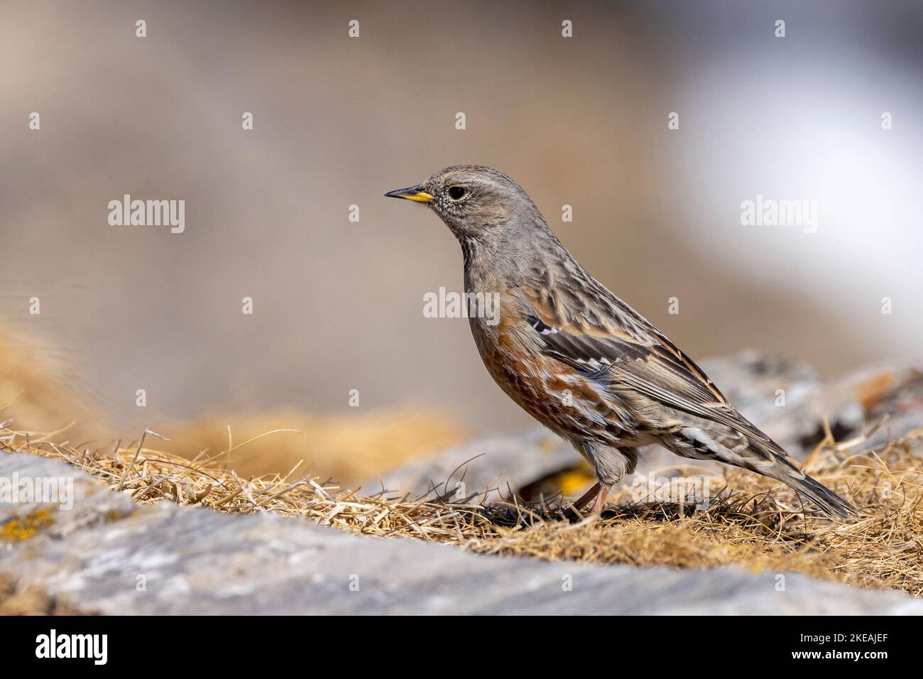
[[545,223],[519,184],[483,165],[453,165],[422,184],[385,195],[432,208],[460,240],[498,236],[536,220]]

